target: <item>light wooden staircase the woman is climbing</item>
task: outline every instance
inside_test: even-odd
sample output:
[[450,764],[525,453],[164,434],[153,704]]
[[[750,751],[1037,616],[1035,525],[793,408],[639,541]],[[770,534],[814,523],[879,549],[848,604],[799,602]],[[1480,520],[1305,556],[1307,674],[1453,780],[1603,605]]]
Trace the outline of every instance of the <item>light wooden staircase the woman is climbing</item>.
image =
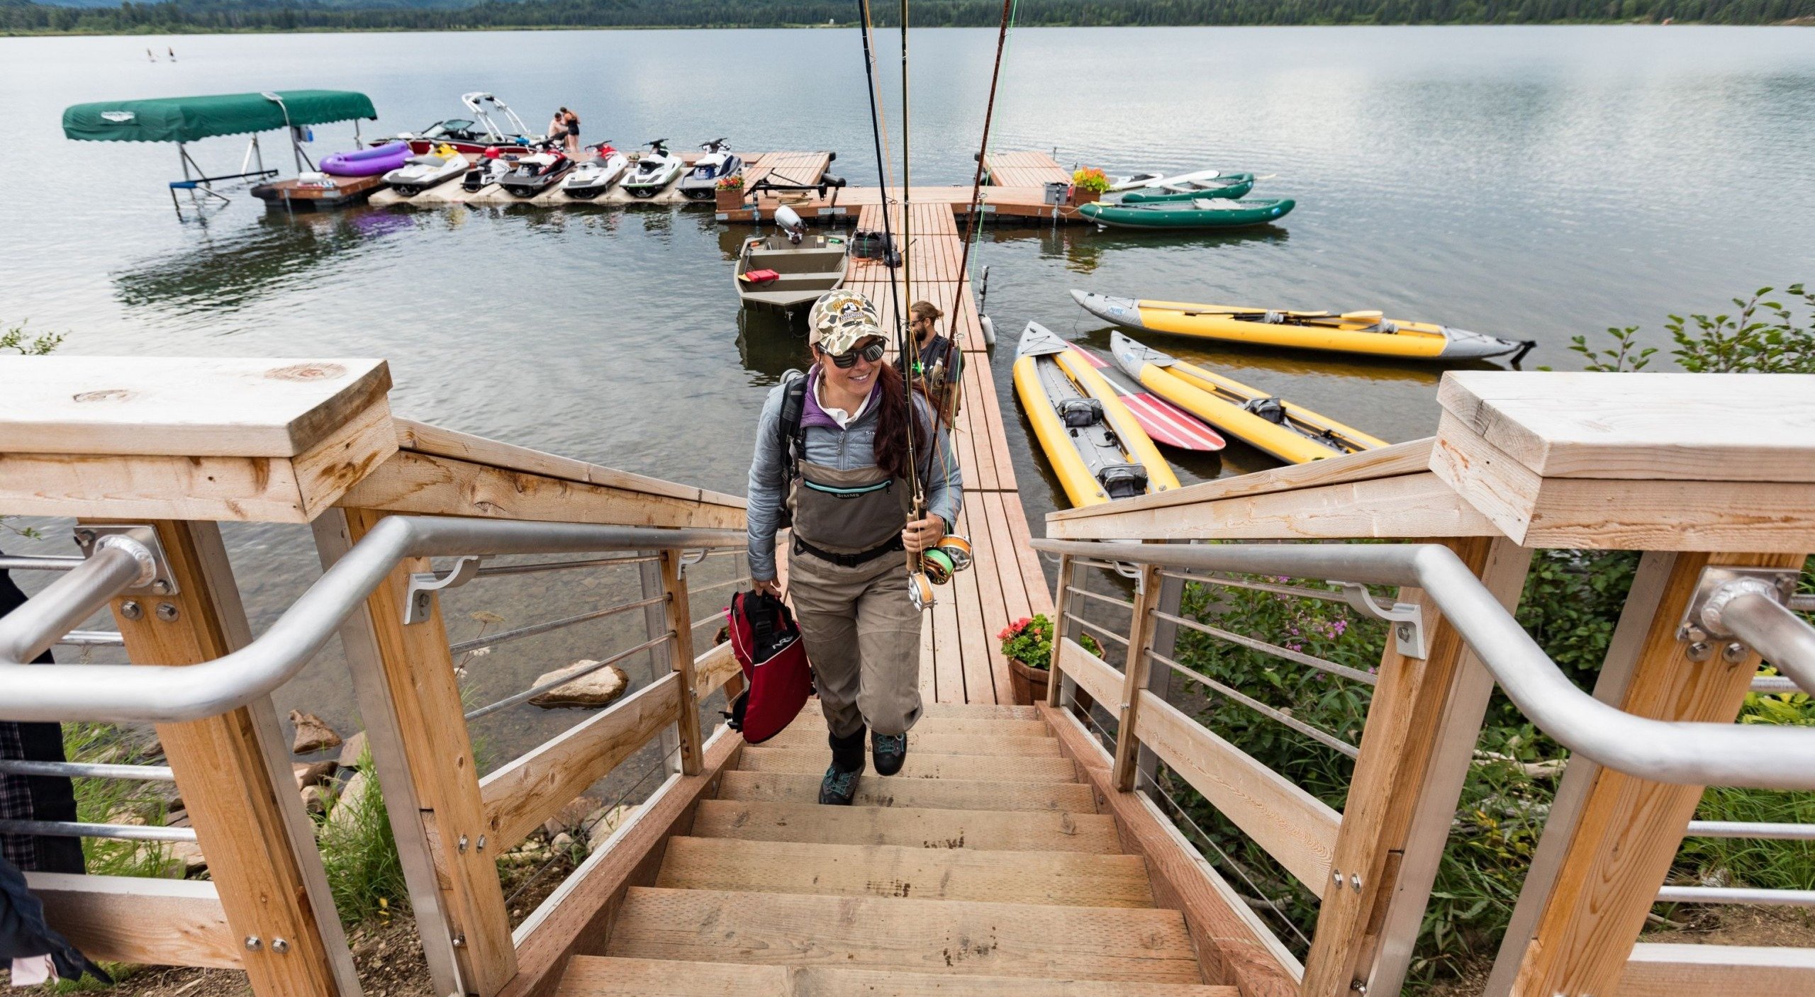
[[1035,707],[927,703],[898,776],[820,807],[817,703],[744,747],[561,997],[1236,997]]

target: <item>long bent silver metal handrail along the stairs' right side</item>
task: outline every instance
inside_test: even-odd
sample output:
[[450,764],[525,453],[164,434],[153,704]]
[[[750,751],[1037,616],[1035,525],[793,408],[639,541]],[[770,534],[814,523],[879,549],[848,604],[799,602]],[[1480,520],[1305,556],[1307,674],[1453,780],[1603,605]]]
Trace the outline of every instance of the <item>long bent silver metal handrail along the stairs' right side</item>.
[[[1454,551],[1437,544],[1100,544],[1035,549],[1241,575],[1414,586],[1494,674],[1506,698],[1563,747],[1661,783],[1815,789],[1815,731],[1634,716],[1583,692]],[[1739,600],[1735,600],[1737,604]]]

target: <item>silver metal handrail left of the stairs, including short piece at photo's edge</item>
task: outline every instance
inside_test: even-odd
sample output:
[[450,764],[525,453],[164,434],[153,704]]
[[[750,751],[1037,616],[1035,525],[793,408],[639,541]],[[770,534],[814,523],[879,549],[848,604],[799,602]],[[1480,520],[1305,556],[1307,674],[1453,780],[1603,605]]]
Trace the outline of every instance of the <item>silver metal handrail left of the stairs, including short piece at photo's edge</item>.
[[114,595],[143,584],[131,551],[100,547],[0,618],[0,720],[176,721],[216,716],[289,682],[414,557],[737,547],[742,529],[659,529],[387,517],[258,640],[200,665],[27,665]]

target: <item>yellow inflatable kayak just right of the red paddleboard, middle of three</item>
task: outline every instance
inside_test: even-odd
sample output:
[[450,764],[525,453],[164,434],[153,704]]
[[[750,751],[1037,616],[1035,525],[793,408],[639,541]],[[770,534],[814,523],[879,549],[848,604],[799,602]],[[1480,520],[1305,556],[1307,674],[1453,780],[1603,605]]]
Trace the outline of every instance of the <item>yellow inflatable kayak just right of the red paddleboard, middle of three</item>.
[[1280,460],[1305,464],[1387,446],[1387,440],[1187,364],[1120,332],[1109,334],[1109,353],[1149,392]]

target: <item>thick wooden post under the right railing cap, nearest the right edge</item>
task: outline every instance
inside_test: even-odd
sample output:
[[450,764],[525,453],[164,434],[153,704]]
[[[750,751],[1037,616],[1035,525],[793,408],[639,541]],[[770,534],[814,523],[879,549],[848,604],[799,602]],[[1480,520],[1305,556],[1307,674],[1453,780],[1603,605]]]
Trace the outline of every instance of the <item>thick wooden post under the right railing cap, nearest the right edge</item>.
[[[1677,624],[1702,567],[1799,567],[1804,555],[1677,555],[1619,709],[1657,720],[1732,723],[1757,654],[1688,660]],[[1704,787],[1653,783],[1601,769],[1579,808],[1550,895],[1514,979],[1514,995],[1614,993],[1670,872]],[[1550,834],[1546,827],[1546,836]]]

